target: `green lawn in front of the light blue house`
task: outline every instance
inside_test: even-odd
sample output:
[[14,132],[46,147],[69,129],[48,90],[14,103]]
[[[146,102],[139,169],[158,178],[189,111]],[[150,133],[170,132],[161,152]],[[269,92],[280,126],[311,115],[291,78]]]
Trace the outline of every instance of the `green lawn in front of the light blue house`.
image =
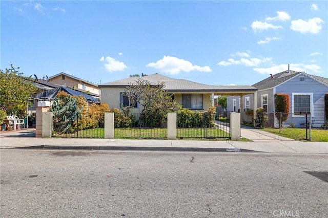
[[[262,129],[265,132],[273,133],[278,136],[306,141],[306,130],[305,128],[290,128],[283,127],[281,129],[281,134],[279,134],[279,128],[264,128]],[[308,130],[308,139],[309,139],[309,130]],[[328,142],[328,130],[324,129],[312,129],[311,130],[311,141],[312,142]]]

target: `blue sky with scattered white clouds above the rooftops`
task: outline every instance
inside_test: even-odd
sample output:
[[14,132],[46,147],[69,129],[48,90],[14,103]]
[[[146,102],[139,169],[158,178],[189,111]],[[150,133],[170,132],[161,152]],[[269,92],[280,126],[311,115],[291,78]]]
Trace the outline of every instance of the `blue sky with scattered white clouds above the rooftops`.
[[1,1],[1,69],[106,83],[160,73],[252,85],[328,77],[327,1]]

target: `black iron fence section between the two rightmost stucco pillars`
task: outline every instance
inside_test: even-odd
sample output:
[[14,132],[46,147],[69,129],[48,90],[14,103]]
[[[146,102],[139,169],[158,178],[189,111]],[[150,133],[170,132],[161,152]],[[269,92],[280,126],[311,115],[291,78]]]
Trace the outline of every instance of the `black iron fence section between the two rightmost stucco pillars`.
[[177,138],[231,138],[230,123],[227,116],[208,116],[200,114],[200,117],[194,119],[178,119]]

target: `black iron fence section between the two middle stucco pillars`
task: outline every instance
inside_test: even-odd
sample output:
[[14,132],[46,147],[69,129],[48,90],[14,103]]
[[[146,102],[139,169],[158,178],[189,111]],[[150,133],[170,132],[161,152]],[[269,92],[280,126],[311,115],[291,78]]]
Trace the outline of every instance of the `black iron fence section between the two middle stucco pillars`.
[[114,116],[114,138],[167,139],[167,117],[156,114],[130,114]]

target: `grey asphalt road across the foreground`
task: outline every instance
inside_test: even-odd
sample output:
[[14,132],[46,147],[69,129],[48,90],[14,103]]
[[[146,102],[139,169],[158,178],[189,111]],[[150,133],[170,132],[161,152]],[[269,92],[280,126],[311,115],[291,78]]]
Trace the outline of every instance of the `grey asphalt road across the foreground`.
[[[327,217],[327,155],[1,150],[1,217]],[[322,173],[319,175],[323,175]]]

